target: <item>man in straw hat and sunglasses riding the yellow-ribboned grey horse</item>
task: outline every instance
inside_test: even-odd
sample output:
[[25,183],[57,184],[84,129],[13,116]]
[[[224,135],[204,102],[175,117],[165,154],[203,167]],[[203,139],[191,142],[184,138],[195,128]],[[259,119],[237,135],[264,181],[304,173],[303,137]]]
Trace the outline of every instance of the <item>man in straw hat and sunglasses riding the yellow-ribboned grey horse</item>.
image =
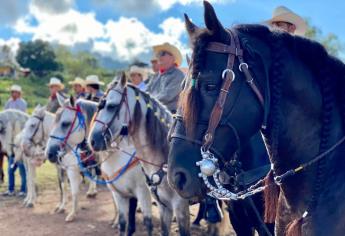
[[184,78],[183,72],[178,68],[182,63],[181,52],[169,43],[156,45],[153,51],[158,58],[159,73],[148,84],[147,92],[175,113]]

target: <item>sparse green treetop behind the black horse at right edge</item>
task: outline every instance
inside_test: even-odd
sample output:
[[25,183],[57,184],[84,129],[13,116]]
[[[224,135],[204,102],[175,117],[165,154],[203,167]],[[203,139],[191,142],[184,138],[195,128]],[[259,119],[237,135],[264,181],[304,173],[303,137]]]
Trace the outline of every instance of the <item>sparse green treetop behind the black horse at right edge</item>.
[[308,30],[305,34],[307,38],[320,42],[330,54],[339,57],[344,52],[344,45],[340,42],[337,35],[333,33],[324,34],[322,30],[312,25],[310,20],[306,20]]

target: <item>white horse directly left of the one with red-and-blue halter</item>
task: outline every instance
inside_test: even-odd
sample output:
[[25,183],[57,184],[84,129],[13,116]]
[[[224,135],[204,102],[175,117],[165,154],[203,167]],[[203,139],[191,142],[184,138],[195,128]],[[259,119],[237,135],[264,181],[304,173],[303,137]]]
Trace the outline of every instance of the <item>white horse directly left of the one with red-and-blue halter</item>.
[[[49,132],[54,125],[55,115],[47,112],[46,107],[37,106],[32,115],[27,120],[21,137],[21,148],[31,163],[43,163],[45,161],[44,148],[47,143]],[[67,203],[67,184],[64,179],[65,172],[70,184],[72,195],[72,206],[65,221],[73,221],[77,214],[78,194],[81,183],[78,163],[73,155],[68,154],[61,158],[59,165],[56,165],[59,178],[60,202],[55,208],[55,212],[63,213]],[[90,184],[89,191],[94,191],[94,184]]]

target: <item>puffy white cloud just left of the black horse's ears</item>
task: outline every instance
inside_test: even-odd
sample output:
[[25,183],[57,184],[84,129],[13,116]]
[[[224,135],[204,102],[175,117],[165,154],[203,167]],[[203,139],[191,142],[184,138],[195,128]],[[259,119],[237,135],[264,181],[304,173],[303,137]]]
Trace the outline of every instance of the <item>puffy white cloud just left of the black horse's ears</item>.
[[119,61],[130,61],[151,53],[152,46],[164,42],[176,45],[183,53],[186,46],[181,43],[184,23],[177,18],[164,20],[159,27],[161,32],[150,31],[136,18],[121,17],[118,21],[109,20],[105,24],[105,41],[96,41],[93,51],[110,56]]

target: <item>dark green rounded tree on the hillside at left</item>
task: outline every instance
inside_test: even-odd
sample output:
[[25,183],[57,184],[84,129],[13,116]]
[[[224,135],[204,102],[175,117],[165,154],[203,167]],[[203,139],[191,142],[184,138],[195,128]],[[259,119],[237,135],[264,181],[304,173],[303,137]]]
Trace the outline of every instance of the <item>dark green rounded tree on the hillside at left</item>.
[[56,61],[53,48],[42,40],[21,42],[16,60],[22,67],[30,68],[40,77],[62,69],[61,64]]

